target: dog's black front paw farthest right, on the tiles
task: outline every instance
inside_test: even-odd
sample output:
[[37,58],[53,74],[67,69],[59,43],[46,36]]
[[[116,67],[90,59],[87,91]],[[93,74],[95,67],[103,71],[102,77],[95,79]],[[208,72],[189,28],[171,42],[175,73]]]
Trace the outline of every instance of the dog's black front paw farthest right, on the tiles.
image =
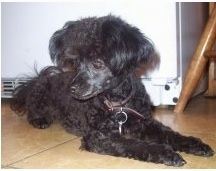
[[200,139],[189,137],[189,148],[185,150],[186,153],[191,153],[198,156],[209,157],[214,155],[214,151],[207,144],[204,144]]

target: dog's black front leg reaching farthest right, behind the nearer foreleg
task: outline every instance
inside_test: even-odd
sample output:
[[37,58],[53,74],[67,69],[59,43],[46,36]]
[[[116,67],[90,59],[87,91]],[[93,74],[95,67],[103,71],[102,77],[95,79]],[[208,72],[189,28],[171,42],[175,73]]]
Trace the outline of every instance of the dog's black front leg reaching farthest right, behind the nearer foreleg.
[[162,123],[152,120],[147,122],[146,131],[148,138],[171,145],[174,150],[184,151],[199,156],[212,156],[211,147],[195,137],[186,137]]

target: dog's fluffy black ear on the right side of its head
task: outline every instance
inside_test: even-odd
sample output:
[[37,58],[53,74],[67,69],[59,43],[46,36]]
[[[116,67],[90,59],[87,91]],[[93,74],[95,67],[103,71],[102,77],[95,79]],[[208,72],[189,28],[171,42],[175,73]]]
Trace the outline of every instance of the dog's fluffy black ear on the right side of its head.
[[108,18],[102,25],[102,42],[106,58],[115,73],[131,71],[146,63],[154,53],[154,45],[138,28],[120,18]]

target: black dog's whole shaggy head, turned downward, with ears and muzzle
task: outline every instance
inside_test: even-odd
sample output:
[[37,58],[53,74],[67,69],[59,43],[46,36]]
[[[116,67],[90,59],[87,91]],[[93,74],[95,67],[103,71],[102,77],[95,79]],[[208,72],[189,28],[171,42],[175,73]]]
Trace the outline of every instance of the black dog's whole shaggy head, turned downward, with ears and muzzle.
[[76,69],[70,92],[83,100],[118,86],[154,54],[148,38],[112,15],[67,22],[51,37],[49,50],[58,66]]

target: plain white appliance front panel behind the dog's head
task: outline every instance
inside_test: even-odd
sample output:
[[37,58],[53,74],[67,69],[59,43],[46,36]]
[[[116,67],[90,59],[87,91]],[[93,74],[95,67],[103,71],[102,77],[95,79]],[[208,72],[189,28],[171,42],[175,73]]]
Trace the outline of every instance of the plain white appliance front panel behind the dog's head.
[[[155,77],[176,77],[176,9],[174,2],[77,0],[70,3],[2,3],[2,77],[17,77],[51,65],[49,38],[66,21],[114,14],[153,40],[162,63]],[[172,70],[172,72],[170,72]]]

